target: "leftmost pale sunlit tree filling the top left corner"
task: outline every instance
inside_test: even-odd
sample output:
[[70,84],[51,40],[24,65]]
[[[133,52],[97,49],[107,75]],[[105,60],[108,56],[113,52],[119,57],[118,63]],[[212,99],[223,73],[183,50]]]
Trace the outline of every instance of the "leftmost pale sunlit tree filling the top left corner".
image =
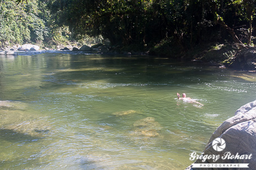
[[1,1],[0,41],[23,43],[41,42],[48,36],[45,21],[39,18],[41,10],[37,1],[17,4],[14,1]]

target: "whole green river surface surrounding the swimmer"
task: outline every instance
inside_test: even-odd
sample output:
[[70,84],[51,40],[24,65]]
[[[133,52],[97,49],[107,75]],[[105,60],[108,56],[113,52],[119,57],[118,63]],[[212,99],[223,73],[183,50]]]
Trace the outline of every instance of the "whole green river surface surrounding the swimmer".
[[255,85],[153,56],[2,56],[0,169],[184,169]]

